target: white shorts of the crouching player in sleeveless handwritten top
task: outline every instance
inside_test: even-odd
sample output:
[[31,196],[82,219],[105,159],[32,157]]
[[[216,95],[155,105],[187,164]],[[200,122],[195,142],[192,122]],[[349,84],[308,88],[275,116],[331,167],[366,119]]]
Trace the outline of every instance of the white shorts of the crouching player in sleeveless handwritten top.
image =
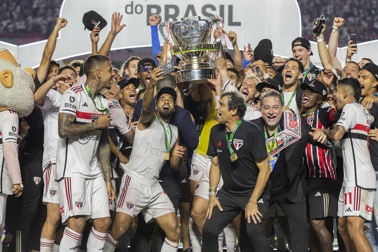
[[122,177],[116,212],[123,212],[132,218],[143,214],[147,222],[165,214],[175,212],[171,200],[160,184],[146,186],[126,173]]

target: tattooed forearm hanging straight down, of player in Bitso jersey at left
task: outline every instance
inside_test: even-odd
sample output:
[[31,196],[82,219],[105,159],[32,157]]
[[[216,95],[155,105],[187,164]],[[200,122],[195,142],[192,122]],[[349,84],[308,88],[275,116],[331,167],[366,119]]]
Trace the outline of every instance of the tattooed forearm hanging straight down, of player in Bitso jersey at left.
[[102,172],[104,173],[105,181],[111,180],[111,166],[110,166],[110,143],[108,129],[103,129],[101,132],[100,142],[98,144],[98,158],[100,159]]

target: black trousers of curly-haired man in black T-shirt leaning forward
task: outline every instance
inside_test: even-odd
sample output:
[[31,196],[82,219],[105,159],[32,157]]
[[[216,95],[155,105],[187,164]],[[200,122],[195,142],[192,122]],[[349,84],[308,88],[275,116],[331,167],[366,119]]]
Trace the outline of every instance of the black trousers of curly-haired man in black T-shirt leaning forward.
[[[240,225],[240,250],[242,252],[270,252],[265,234],[262,232],[262,222],[255,224],[252,220],[248,223],[245,219],[244,210],[251,195],[236,196],[226,193],[223,189],[217,193],[218,200],[223,211],[214,207],[212,216],[206,219],[202,227],[202,251],[218,252],[218,235],[223,228],[242,212]],[[257,202],[258,211],[265,216],[268,212],[266,196],[262,196]]]

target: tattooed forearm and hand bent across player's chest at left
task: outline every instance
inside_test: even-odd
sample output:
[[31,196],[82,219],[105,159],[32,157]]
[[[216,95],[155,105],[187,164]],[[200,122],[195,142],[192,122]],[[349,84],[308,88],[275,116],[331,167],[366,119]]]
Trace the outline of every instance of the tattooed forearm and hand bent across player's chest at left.
[[59,113],[58,133],[61,138],[75,137],[94,129],[107,128],[109,122],[112,120],[110,118],[110,113],[100,116],[97,121],[93,123],[83,125],[74,124],[75,118],[76,116],[72,114]]

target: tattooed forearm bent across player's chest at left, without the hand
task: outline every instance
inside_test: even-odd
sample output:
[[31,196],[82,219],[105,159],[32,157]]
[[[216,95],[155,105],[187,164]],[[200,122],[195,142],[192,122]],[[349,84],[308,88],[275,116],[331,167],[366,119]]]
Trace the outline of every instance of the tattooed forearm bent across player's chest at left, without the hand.
[[98,128],[97,121],[89,124],[74,124],[75,116],[68,113],[59,113],[58,133],[61,138],[75,137]]

